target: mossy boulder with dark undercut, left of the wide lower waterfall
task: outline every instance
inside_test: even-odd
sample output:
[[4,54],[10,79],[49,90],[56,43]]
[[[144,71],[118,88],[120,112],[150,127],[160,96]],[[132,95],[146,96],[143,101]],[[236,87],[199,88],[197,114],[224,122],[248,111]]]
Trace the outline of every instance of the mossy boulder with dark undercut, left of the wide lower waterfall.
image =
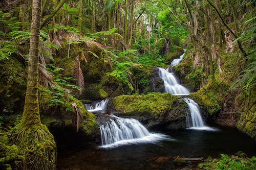
[[63,107],[51,108],[51,113],[47,110],[42,112],[41,122],[46,125],[54,135],[56,143],[61,145],[88,144],[99,142],[99,127],[95,120],[95,115],[84,109],[79,100],[75,101],[83,118],[77,130],[77,113],[66,110]]

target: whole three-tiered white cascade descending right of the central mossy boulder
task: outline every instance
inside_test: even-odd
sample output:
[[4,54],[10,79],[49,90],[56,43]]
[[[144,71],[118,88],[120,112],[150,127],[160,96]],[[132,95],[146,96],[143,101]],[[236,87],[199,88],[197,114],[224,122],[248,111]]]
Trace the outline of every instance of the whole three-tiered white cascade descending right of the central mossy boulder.
[[[184,52],[186,51],[184,50]],[[174,59],[174,61],[170,65],[178,65],[183,59],[184,54],[181,55],[179,59]],[[172,68],[159,68],[159,77],[164,81],[165,92],[170,92],[171,94],[180,96],[190,94],[189,90],[186,87],[178,83],[178,80],[175,77]],[[199,106],[194,100],[189,98],[183,98],[183,100],[187,103],[190,111],[190,115],[186,116],[187,127],[189,127],[189,129],[209,131],[216,130],[214,128],[205,126],[204,120],[200,113]]]

